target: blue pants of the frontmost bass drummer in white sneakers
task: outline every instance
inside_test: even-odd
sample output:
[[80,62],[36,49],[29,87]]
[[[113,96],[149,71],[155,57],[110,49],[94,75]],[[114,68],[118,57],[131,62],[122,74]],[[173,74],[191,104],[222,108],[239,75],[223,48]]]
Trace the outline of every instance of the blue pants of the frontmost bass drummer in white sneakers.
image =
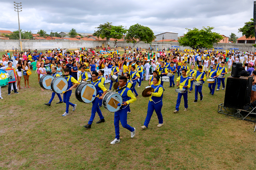
[[119,139],[119,120],[122,124],[122,126],[129,131],[134,131],[134,128],[131,127],[129,124],[127,124],[127,111],[128,111],[128,106],[124,109],[120,109],[115,112],[115,117],[114,117],[114,125],[115,125],[115,131],[116,131],[116,138]]

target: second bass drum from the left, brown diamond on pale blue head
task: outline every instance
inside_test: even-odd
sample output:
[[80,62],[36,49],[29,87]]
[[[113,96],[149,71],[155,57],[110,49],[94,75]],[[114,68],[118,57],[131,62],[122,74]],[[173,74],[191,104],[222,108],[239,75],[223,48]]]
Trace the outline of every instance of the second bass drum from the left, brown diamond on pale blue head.
[[55,77],[51,82],[51,88],[54,93],[61,94],[68,89],[68,81],[65,77]]

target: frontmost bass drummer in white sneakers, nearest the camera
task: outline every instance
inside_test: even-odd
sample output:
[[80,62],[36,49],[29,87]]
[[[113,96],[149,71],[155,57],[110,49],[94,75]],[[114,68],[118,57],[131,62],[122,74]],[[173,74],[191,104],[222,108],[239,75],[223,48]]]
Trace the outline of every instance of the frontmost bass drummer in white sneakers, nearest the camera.
[[119,90],[117,93],[119,93],[123,98],[123,106],[120,110],[115,112],[114,116],[114,125],[115,125],[115,132],[116,137],[115,139],[110,143],[111,145],[114,145],[116,143],[120,142],[120,136],[119,136],[119,121],[121,122],[122,126],[129,131],[131,131],[131,138],[135,136],[136,129],[131,127],[129,124],[127,124],[127,112],[128,112],[128,106],[135,102],[137,99],[132,94],[132,91],[126,87],[127,78],[125,76],[119,77],[119,87],[117,90],[124,88],[123,90]]

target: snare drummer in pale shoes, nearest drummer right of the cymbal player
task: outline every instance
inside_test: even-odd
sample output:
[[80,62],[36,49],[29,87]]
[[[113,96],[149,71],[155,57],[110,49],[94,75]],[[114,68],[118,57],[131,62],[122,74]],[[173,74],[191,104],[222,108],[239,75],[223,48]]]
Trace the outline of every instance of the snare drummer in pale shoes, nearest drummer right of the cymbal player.
[[184,111],[188,110],[188,90],[190,87],[190,78],[186,75],[187,70],[186,69],[182,69],[181,70],[181,76],[177,78],[177,86],[179,86],[179,81],[180,81],[180,89],[186,89],[185,93],[178,93],[178,98],[177,98],[177,102],[176,102],[176,110],[174,110],[174,113],[178,113],[179,111],[179,107],[180,107],[180,100],[181,100],[181,96],[183,96],[184,98],[184,106],[185,109]]

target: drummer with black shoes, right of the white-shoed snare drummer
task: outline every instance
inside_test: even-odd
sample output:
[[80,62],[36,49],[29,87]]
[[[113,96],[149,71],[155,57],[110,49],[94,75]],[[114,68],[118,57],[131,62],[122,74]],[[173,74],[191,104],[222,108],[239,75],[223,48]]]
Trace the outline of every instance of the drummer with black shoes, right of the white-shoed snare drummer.
[[[195,71],[195,73],[193,74],[193,78],[194,78],[194,81],[202,81],[204,84],[204,81],[206,80],[206,76],[205,76],[205,73],[203,72],[202,66],[198,66],[198,70]],[[202,94],[202,87],[203,86],[195,86],[195,101],[194,101],[194,103],[197,102],[198,92],[200,94],[200,101],[203,100],[204,96]]]

